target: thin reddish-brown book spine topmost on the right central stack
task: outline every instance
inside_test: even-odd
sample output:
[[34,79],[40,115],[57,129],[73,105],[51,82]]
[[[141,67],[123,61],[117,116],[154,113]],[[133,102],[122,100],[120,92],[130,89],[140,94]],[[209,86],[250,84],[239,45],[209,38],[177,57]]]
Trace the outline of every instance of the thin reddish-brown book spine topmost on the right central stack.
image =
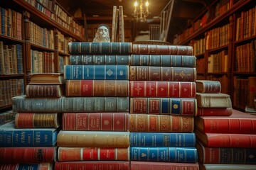
[[132,44],[134,55],[193,55],[193,47],[186,45]]

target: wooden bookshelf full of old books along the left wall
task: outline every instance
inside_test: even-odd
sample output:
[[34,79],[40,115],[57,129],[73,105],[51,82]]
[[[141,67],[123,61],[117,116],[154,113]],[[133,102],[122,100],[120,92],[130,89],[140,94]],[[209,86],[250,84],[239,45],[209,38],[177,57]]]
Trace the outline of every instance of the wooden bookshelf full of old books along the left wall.
[[84,28],[55,0],[0,2],[0,111],[24,94],[30,73],[63,72],[68,42],[84,41]]

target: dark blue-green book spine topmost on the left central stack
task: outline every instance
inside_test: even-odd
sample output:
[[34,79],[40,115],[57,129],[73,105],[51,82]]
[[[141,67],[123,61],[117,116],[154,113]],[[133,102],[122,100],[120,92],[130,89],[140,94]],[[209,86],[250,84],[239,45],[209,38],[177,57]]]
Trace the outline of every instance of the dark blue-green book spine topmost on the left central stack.
[[129,55],[131,42],[69,42],[68,50],[72,55]]

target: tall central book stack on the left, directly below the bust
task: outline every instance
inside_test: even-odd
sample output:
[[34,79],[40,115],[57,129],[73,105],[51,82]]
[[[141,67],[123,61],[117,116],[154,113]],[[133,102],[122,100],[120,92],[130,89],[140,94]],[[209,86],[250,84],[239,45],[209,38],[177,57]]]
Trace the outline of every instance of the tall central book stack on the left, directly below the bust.
[[55,170],[129,170],[131,43],[70,42],[68,49],[65,95],[84,102],[63,113]]

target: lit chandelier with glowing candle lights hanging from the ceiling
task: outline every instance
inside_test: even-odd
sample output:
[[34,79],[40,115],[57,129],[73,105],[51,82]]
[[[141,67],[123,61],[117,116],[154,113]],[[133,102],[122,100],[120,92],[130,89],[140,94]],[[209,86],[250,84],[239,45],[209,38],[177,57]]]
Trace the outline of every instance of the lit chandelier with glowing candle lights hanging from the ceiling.
[[[137,9],[139,6],[139,9]],[[146,9],[145,9],[146,8]],[[146,22],[146,17],[149,16],[149,1],[148,0],[140,0],[140,4],[138,4],[137,0],[134,2],[134,18],[136,21]]]

